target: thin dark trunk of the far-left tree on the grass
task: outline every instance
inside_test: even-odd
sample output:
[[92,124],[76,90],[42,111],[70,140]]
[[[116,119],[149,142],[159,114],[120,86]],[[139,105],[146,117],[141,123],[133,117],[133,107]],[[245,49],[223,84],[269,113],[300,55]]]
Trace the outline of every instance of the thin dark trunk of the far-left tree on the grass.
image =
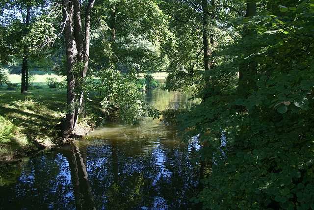
[[[30,5],[27,5],[26,8],[26,21],[25,21],[25,29],[24,35],[26,36],[28,32],[28,26],[30,21]],[[22,63],[22,81],[21,81],[21,93],[26,94],[28,89],[28,47],[25,45],[23,49],[23,63]]]

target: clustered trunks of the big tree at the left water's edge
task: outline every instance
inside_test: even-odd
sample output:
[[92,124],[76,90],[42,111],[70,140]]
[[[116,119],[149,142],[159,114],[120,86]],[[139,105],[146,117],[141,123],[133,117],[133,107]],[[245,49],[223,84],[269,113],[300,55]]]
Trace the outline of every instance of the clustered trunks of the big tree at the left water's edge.
[[64,39],[67,69],[67,113],[63,122],[64,136],[72,134],[77,125],[83,104],[84,79],[88,70],[90,21],[95,0],[88,0],[85,12],[84,34],[81,24],[81,4],[79,0],[63,0]]

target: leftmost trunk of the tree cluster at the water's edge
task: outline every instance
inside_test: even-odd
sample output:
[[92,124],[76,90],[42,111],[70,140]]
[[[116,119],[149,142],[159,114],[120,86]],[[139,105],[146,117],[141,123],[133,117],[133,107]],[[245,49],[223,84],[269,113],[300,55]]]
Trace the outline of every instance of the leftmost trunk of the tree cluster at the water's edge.
[[64,26],[64,40],[66,47],[66,69],[67,69],[67,113],[63,122],[62,134],[68,137],[72,134],[75,121],[75,74],[73,72],[73,65],[77,56],[77,48],[75,40],[73,39],[73,4],[68,0],[63,0],[63,22]]

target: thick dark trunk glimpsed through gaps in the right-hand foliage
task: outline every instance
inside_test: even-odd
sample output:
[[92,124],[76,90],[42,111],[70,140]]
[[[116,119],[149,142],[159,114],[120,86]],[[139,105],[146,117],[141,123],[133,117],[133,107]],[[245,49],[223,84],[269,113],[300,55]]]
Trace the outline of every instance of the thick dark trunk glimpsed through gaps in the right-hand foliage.
[[[246,7],[246,17],[256,16],[257,4],[255,0],[247,2]],[[243,38],[252,35],[252,31],[244,28]],[[253,60],[244,62],[239,69],[239,83],[238,83],[238,92],[243,97],[247,97],[251,89],[255,89],[256,81],[254,76],[257,74],[257,63]]]

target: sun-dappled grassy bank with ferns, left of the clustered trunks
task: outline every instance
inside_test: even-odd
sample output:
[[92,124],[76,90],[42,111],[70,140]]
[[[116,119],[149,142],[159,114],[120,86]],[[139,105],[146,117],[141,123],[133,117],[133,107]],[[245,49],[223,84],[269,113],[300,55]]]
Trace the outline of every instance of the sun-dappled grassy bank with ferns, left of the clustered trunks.
[[26,95],[20,90],[0,88],[0,160],[26,156],[36,148],[47,148],[58,139],[63,110],[66,107],[66,90],[32,89]]

